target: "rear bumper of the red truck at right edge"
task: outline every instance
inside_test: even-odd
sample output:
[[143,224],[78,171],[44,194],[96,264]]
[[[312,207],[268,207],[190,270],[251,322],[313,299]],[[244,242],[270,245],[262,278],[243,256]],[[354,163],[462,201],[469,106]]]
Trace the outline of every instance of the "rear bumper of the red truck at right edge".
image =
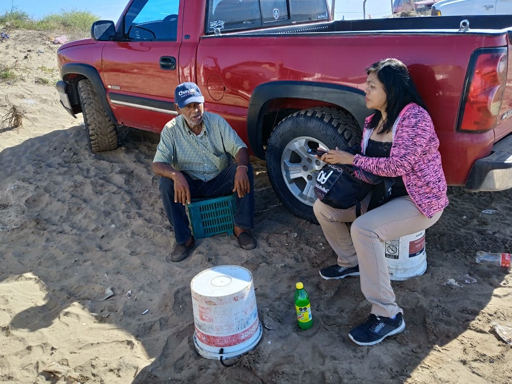
[[475,161],[464,189],[472,192],[512,188],[512,135],[493,146],[493,153]]

